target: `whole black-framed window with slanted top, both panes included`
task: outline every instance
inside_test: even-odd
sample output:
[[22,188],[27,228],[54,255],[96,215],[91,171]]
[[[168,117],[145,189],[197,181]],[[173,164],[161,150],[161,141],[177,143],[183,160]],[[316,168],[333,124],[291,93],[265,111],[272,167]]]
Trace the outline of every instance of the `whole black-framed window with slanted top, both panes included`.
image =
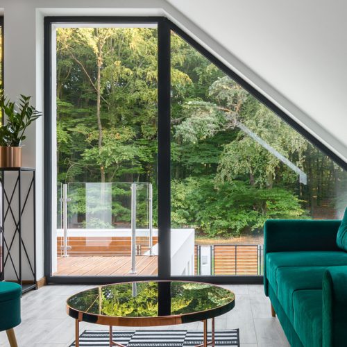
[[261,281],[266,219],[341,217],[336,155],[167,19],[45,22],[50,281]]

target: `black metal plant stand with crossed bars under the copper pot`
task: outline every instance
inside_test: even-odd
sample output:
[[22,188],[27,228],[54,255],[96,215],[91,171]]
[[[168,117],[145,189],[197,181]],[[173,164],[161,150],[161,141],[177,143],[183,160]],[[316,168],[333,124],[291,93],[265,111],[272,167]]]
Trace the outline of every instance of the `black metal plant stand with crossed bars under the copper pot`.
[[[11,181],[14,184],[5,185],[6,172],[17,172],[11,175]],[[25,293],[31,289],[37,289],[36,285],[36,221],[35,221],[35,169],[30,167],[1,167],[0,168],[0,185],[1,185],[1,225],[0,225],[0,242],[1,242],[1,267],[0,279],[5,278],[7,266],[12,265],[15,278],[13,280],[22,285],[22,292]],[[31,175],[30,175],[31,174]],[[28,188],[23,187],[23,181],[28,183]],[[6,180],[7,182],[7,180]],[[11,186],[11,187],[10,187]],[[24,192],[24,189],[26,192]],[[23,198],[24,197],[24,198]],[[33,203],[33,227],[25,228],[25,239],[23,237],[22,217],[31,201]],[[12,223],[11,223],[12,219]],[[11,228],[12,227],[12,228]],[[31,232],[33,244],[28,248],[28,232]],[[25,240],[27,244],[25,244]],[[31,251],[31,252],[30,252]],[[26,262],[24,264],[24,262]],[[26,280],[23,280],[23,268],[26,265]],[[33,280],[27,278],[33,276]]]

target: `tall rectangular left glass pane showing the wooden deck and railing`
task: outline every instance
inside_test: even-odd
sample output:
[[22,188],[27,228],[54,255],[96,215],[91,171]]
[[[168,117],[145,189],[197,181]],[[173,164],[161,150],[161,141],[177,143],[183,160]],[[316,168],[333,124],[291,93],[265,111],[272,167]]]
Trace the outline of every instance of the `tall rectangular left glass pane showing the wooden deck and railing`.
[[157,28],[58,28],[56,37],[57,180],[69,199],[57,238],[67,233],[69,257],[58,251],[53,274],[155,275]]

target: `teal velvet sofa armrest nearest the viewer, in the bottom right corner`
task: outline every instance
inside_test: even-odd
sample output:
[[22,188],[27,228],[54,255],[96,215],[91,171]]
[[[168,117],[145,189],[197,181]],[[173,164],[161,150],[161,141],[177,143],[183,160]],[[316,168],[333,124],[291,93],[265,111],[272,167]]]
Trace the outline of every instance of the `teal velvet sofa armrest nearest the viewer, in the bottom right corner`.
[[331,266],[323,275],[323,346],[346,346],[347,266]]

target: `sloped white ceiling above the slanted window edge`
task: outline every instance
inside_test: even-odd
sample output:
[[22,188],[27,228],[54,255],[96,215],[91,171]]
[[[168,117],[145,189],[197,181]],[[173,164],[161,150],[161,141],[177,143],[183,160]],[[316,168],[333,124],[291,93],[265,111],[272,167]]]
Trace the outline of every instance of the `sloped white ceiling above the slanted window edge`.
[[347,1],[167,2],[295,105],[292,115],[346,160]]

